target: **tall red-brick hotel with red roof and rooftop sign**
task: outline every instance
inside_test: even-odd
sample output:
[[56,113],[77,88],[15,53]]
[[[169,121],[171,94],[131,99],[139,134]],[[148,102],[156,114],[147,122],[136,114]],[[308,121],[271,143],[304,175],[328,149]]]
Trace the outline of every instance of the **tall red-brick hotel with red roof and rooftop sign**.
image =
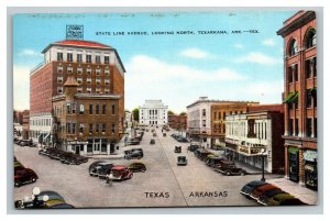
[[50,44],[42,52],[44,62],[30,74],[30,134],[48,142],[52,139],[54,97],[64,96],[64,84],[74,76],[77,93],[90,96],[97,103],[100,96],[120,96],[117,130],[124,121],[124,67],[116,48],[90,41],[64,40]]

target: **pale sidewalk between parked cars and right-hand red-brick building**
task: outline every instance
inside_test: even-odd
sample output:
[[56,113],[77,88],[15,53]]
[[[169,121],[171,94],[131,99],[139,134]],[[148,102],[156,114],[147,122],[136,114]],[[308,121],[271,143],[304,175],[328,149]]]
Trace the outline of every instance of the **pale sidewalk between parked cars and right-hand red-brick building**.
[[284,191],[299,198],[302,202],[308,205],[316,205],[318,202],[318,192],[302,187],[298,183],[294,183],[285,178],[266,179],[266,181],[278,186]]

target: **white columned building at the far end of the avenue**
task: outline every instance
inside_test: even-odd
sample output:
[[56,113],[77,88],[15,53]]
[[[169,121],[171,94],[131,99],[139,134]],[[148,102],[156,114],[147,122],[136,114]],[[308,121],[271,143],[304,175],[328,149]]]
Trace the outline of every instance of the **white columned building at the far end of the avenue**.
[[144,125],[167,124],[167,109],[162,100],[145,100],[139,107],[139,123]]

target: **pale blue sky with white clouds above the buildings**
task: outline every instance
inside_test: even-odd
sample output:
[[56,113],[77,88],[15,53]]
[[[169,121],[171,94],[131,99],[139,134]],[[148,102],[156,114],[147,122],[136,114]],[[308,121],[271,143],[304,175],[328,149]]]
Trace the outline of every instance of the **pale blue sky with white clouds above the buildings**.
[[[65,38],[67,24],[82,24],[84,38],[118,49],[127,68],[125,108],[162,99],[180,112],[200,96],[280,102],[283,38],[276,35],[295,11],[184,13],[18,14],[13,23],[14,108],[29,109],[29,70],[50,43]],[[232,34],[257,30],[258,33]],[[145,31],[148,35],[96,35]],[[193,31],[193,35],[152,32]],[[228,34],[198,34],[227,31]]]

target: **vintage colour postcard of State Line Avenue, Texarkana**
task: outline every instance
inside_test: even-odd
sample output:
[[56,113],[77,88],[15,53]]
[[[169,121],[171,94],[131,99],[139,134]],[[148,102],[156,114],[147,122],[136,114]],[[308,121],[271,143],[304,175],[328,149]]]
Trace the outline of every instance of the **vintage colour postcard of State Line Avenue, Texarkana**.
[[317,18],[14,14],[14,207],[317,205]]

